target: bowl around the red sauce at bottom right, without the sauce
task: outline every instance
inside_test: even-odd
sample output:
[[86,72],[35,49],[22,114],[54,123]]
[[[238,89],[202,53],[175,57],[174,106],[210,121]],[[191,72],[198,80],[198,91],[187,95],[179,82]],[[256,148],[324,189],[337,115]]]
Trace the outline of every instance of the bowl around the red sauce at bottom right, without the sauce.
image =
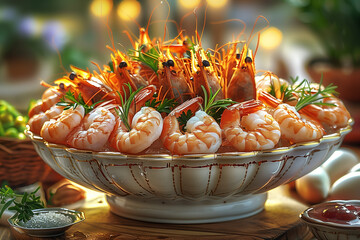
[[[334,200],[325,202],[326,203],[341,203],[351,204],[354,206],[360,206],[360,200]],[[300,214],[300,218],[307,224],[310,231],[319,240],[356,240],[360,239],[360,224],[356,225],[341,224],[335,222],[324,222],[319,219],[314,219],[309,216],[309,211],[316,208],[316,206],[322,205],[317,204],[306,209]],[[360,216],[359,216],[360,217]]]

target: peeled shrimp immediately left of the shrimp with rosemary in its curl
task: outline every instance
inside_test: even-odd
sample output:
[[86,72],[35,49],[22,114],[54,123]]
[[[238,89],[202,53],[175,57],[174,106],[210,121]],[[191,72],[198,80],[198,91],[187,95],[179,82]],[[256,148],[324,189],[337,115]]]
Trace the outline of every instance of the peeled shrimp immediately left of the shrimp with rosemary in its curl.
[[105,107],[88,113],[77,129],[68,137],[71,147],[100,151],[107,143],[115,126],[115,116]]

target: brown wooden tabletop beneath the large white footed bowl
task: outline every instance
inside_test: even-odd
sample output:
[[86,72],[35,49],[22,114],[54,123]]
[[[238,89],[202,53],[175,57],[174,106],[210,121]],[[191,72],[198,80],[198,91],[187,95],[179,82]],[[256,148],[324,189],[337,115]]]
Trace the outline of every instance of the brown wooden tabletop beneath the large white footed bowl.
[[[282,186],[269,192],[265,210],[252,217],[211,224],[157,224],[111,213],[102,196],[79,209],[85,212],[84,222],[51,239],[312,239],[298,217],[307,207],[287,186]],[[4,227],[0,232],[1,240],[37,239]]]

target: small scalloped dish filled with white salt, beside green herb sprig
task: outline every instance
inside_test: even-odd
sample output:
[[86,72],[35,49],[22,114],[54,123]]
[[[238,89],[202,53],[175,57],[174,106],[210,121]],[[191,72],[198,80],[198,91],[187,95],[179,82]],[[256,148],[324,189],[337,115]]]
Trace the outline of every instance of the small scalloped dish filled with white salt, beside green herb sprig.
[[9,218],[8,222],[16,231],[32,237],[55,237],[85,220],[84,213],[66,208],[42,208],[32,212],[34,215],[26,222],[18,218]]

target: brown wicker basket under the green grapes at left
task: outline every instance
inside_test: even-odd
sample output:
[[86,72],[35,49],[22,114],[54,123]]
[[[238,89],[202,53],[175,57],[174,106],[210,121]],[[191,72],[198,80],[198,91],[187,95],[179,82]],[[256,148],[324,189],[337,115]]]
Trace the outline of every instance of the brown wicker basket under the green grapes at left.
[[51,168],[35,151],[31,140],[0,138],[0,183],[13,188],[46,178]]

